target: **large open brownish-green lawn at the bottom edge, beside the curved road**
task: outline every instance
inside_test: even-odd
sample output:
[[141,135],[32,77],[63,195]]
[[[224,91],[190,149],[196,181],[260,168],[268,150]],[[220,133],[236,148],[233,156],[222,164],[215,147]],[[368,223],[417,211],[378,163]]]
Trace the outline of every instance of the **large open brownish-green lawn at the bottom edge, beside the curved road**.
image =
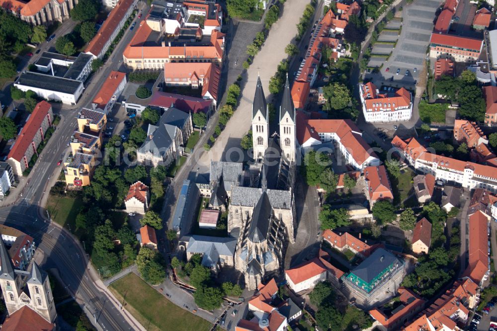
[[134,273],[113,282],[109,289],[147,330],[210,330],[212,325],[171,303]]

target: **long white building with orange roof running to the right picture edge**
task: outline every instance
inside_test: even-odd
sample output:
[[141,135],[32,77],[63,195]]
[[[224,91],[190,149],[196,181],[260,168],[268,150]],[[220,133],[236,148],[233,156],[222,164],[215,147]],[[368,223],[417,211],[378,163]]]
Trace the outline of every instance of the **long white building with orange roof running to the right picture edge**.
[[497,192],[496,167],[431,154],[414,138],[403,141],[395,136],[392,145],[401,150],[416,170],[430,173],[436,180],[459,184],[469,189],[483,188],[493,193]]

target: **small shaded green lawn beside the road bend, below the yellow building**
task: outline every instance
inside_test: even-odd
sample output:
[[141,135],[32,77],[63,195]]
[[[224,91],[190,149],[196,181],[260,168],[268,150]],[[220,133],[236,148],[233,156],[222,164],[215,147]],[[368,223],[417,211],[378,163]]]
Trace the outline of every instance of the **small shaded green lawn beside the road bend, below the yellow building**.
[[58,197],[50,195],[47,201],[47,210],[50,213],[52,221],[69,229],[78,238],[81,236],[79,231],[76,231],[76,216],[83,206],[83,201],[79,197]]

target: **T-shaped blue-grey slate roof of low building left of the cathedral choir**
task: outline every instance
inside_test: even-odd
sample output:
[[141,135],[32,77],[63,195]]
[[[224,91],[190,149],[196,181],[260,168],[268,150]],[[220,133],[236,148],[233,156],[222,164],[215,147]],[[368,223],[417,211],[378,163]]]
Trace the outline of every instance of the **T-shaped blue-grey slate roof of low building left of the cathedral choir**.
[[219,255],[235,255],[236,238],[220,238],[208,236],[191,236],[186,251],[204,254],[202,265],[214,267],[219,261]]

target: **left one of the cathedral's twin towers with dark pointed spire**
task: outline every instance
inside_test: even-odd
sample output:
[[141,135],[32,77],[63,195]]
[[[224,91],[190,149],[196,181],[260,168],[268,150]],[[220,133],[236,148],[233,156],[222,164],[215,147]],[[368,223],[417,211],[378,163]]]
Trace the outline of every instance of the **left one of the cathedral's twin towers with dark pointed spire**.
[[264,158],[269,140],[269,113],[260,77],[257,77],[252,103],[253,159],[260,163]]

